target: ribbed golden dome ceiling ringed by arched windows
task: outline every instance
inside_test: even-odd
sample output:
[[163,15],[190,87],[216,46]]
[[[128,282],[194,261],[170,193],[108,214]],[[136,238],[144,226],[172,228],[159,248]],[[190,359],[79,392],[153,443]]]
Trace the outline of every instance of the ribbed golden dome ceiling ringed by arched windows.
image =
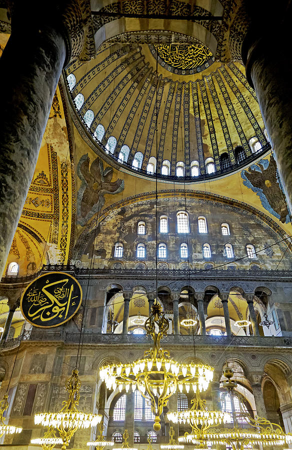
[[[184,179],[192,181],[192,165],[198,167],[196,180],[247,165],[270,148],[256,95],[240,63],[214,59],[194,38],[173,44],[105,42],[94,60],[66,69],[73,120],[113,166],[132,170],[136,158],[135,170],[148,176],[155,176],[148,173],[149,162],[162,178],[175,177],[178,163]],[[251,138],[258,142],[255,154]],[[165,160],[167,175],[161,175]],[[210,161],[213,173],[206,170]]]

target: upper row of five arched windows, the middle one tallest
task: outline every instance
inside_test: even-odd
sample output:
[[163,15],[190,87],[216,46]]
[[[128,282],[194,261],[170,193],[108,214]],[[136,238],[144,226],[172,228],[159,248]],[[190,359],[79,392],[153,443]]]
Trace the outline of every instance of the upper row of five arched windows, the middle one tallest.
[[[188,214],[185,211],[178,211],[176,214],[177,219],[177,232],[178,233],[189,233],[189,224],[188,224]],[[199,216],[197,219],[198,232],[199,233],[207,233],[207,221],[205,217]],[[160,233],[168,233],[168,217],[167,215],[161,215],[159,218],[159,232]],[[229,235],[229,225],[228,223],[221,223],[221,232],[223,235]],[[142,220],[138,222],[137,226],[138,234],[146,233],[146,224]]]

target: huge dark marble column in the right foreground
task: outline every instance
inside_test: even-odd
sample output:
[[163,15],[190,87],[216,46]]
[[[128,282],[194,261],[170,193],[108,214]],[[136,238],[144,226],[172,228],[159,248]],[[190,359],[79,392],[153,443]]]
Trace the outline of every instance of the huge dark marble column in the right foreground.
[[[250,2],[248,12],[249,30],[242,44],[242,59],[247,80],[256,92],[291,210],[292,61],[287,55],[290,54],[292,5],[282,1],[271,10]],[[264,23],[265,29],[259,29],[259,23]],[[276,206],[284,218],[284,201],[280,200]]]

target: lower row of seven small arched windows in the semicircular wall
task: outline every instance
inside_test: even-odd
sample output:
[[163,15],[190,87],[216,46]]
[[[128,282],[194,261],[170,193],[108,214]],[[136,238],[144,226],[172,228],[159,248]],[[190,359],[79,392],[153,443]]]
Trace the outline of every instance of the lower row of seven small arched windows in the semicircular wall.
[[[245,246],[245,248],[246,248],[247,257],[250,258],[250,259],[254,259],[256,257],[254,246],[251,245],[251,244],[247,244]],[[225,255],[226,255],[227,258],[233,258],[234,257],[233,247],[232,247],[232,245],[229,242],[224,244],[224,252],[225,252]],[[123,244],[121,242],[116,242],[116,244],[114,246],[114,257],[121,258],[122,257],[122,253],[123,253]],[[206,242],[206,243],[203,244],[202,253],[203,253],[203,256],[205,258],[210,258],[211,257],[211,247],[210,247],[209,243]],[[165,259],[167,257],[167,247],[166,247],[166,244],[164,242],[160,242],[158,244],[157,255],[158,255],[158,258]],[[136,256],[139,259],[145,258],[145,256],[146,256],[146,249],[145,249],[145,244],[144,243],[139,242],[137,244]],[[180,257],[181,258],[187,258],[188,257],[188,248],[187,248],[187,243],[185,243],[185,242],[182,242],[180,244]]]

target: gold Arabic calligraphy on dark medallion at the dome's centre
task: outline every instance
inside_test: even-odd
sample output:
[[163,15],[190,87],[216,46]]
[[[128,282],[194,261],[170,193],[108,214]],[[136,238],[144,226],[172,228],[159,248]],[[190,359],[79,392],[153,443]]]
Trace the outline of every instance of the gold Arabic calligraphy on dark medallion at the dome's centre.
[[212,52],[202,44],[158,44],[158,56],[172,67],[190,70],[212,57]]

